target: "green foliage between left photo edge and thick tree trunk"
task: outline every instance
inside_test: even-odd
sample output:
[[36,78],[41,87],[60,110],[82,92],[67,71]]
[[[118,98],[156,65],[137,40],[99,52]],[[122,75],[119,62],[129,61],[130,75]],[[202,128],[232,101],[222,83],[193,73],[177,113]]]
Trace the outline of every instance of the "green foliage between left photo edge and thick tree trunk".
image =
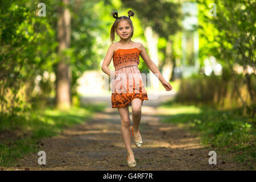
[[[51,7],[56,3],[46,1]],[[51,71],[55,32],[52,19],[36,16],[36,1],[1,1],[0,7],[0,98],[1,111],[19,113],[26,110],[26,95],[31,96],[35,76],[43,69]],[[26,84],[27,90],[22,90]],[[27,93],[26,93],[27,91]],[[8,94],[7,94],[8,93]],[[7,102],[6,102],[7,101]],[[20,105],[20,102],[24,102]]]

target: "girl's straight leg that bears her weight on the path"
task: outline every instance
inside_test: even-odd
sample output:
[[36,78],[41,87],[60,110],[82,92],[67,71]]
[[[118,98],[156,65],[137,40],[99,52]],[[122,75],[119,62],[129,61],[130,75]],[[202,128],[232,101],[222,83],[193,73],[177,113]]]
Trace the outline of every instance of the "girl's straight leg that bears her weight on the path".
[[133,150],[131,150],[131,131],[130,131],[130,115],[129,115],[129,107],[125,106],[122,108],[118,108],[118,112],[121,117],[121,133],[123,137],[123,142],[125,143],[125,148],[127,151],[127,155],[129,156],[129,162],[135,161]]

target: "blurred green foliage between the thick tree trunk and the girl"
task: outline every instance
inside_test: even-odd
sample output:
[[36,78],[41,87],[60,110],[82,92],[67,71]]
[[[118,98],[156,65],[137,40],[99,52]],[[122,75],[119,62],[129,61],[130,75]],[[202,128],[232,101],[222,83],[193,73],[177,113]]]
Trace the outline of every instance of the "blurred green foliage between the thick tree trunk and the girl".
[[101,19],[104,9],[101,1],[70,1],[72,13],[71,48],[68,51],[72,67],[72,96],[77,94],[77,79],[88,69],[100,68],[102,56],[98,53],[108,22]]

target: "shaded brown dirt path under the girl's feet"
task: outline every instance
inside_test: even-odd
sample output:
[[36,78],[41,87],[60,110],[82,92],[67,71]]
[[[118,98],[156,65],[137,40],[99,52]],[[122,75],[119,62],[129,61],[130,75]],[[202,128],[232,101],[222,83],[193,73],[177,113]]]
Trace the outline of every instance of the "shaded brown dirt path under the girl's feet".
[[[170,96],[144,101],[140,132],[143,147],[132,147],[137,167],[127,167],[125,145],[121,137],[117,109],[108,107],[82,125],[40,142],[46,152],[46,166],[39,166],[36,154],[19,160],[19,170],[250,170],[228,162],[217,154],[217,164],[210,165],[208,152],[214,149],[200,145],[199,137],[176,125],[160,122],[156,107]],[[98,100],[104,101],[102,98]],[[87,100],[88,101],[88,100]],[[92,98],[92,101],[96,100]],[[109,101],[109,98],[106,98]],[[130,108],[131,109],[131,108]],[[131,114],[131,113],[130,113]]]

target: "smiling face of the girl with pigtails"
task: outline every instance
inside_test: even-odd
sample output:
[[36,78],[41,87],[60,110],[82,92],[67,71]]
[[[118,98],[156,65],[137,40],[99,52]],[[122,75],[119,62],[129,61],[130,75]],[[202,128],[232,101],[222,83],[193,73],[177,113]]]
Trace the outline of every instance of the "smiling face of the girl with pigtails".
[[131,32],[133,32],[133,28],[126,20],[122,20],[121,22],[119,22],[117,29],[115,30],[121,39],[129,39],[131,36]]

